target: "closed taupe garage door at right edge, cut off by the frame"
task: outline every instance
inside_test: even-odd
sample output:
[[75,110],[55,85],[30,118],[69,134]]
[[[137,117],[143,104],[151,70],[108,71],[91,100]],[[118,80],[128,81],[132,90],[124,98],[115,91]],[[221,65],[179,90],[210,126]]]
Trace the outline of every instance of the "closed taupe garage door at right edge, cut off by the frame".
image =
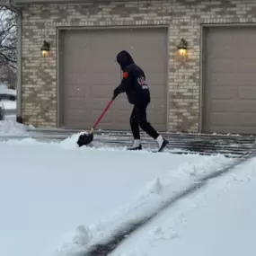
[[256,133],[256,28],[205,31],[203,131]]

